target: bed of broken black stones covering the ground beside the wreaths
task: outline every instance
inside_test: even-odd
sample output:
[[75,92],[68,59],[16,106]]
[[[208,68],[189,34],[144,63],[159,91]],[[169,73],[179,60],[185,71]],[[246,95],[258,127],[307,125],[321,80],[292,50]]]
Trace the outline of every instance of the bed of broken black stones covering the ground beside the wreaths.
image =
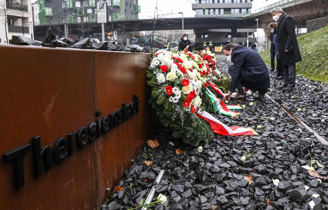
[[[225,61],[220,62],[228,65]],[[300,81],[299,78],[301,77],[297,77],[297,80]],[[313,86],[315,83],[312,83]],[[315,88],[313,86],[311,88]],[[288,94],[297,94],[301,90],[303,87]],[[277,94],[277,97],[281,95],[276,90],[269,93]],[[297,124],[268,98],[253,100],[256,95],[250,94],[248,101],[238,102],[246,107],[239,110],[241,114],[237,117],[215,117],[229,126],[252,127],[258,131],[257,136],[215,135],[209,144],[202,145],[203,151],[198,152],[197,147],[185,145],[179,139],[172,139],[172,131],[162,128],[158,135],[154,136],[160,146],[152,149],[146,145],[142,149],[131,169],[125,171],[124,178],[117,183],[123,190],[112,194],[101,209],[134,208],[135,204],[139,204],[142,198],[148,196],[152,186],[156,189],[154,198],[159,193],[168,198],[164,205],[156,205],[156,210],[297,210],[310,209],[309,202],[312,200],[316,204],[314,209],[328,209],[328,182],[324,179],[320,182],[309,176],[307,170],[301,167],[309,164],[308,151],[313,158],[320,160],[322,165],[328,166],[328,146],[318,142],[312,133]],[[280,97],[286,97],[283,103],[287,103],[287,96]],[[303,103],[300,98],[293,100],[294,104],[290,107]],[[250,102],[254,104],[249,105]],[[287,105],[285,106],[290,108]],[[313,123],[312,116],[306,117],[305,113],[297,114],[299,118],[304,117],[304,121],[308,119],[308,125],[312,128],[322,123]],[[259,125],[265,128],[257,128]],[[182,150],[182,154],[176,154],[176,149]],[[257,151],[254,158],[248,158],[244,162],[240,160],[245,152],[255,149]],[[145,160],[151,160],[154,164],[146,166]],[[319,168],[316,164],[314,167],[320,175],[328,174],[327,169]],[[154,180],[161,169],[165,170],[165,174],[161,182],[155,184]],[[243,178],[244,175],[253,176],[254,182],[250,186]],[[277,187],[272,178],[279,179]],[[305,185],[309,186],[308,190],[305,190]],[[319,197],[314,198],[313,194],[319,194]],[[266,200],[269,200],[271,205],[268,205]]]

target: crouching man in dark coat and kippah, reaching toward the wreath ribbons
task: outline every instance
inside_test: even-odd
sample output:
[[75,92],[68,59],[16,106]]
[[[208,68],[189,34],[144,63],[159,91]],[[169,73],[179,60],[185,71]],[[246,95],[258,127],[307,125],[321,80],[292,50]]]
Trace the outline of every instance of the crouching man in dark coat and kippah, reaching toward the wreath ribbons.
[[[248,47],[227,42],[222,47],[222,52],[234,63],[228,68],[231,82],[229,91],[223,99],[245,100],[243,87],[253,92],[258,91],[256,99],[263,98],[270,87],[270,78],[268,68],[258,53]],[[231,96],[236,88],[238,93]]]

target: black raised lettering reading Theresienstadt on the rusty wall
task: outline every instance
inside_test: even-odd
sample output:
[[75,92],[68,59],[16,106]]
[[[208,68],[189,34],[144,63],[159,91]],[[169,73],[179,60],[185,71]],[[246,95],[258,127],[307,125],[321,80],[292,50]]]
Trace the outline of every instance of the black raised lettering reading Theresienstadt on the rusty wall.
[[[101,120],[89,123],[88,127],[81,127],[77,131],[67,134],[67,138],[58,138],[52,150],[49,146],[42,146],[40,136],[32,138],[32,157],[34,176],[38,177],[43,171],[48,171],[52,167],[52,161],[61,164],[67,157],[74,154],[74,142],[76,146],[83,149],[111,129],[120,125],[139,111],[139,98],[133,95],[132,103],[105,115]],[[16,190],[24,186],[24,165],[23,157],[31,149],[31,144],[17,147],[2,155],[5,162],[13,163],[14,187]]]

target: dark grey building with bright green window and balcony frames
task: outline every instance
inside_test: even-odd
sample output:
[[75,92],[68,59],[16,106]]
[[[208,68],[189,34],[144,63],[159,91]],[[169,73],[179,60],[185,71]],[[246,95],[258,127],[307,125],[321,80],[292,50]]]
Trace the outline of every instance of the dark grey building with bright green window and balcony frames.
[[108,21],[138,19],[138,0],[38,0],[40,25],[97,21],[97,2],[107,2]]

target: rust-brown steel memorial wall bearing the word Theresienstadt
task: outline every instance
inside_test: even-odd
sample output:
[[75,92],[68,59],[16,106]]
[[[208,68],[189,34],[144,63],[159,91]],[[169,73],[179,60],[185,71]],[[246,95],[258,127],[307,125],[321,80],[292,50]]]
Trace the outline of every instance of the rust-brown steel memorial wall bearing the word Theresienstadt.
[[[0,55],[0,209],[99,209],[153,131],[145,82],[149,54],[0,45]],[[122,103],[134,101],[130,110],[136,108],[133,95],[139,112],[101,132],[102,118]],[[91,128],[93,139],[83,141],[82,127]],[[73,131],[76,136],[68,136]],[[12,151],[23,145],[22,186],[15,182],[19,158]]]

